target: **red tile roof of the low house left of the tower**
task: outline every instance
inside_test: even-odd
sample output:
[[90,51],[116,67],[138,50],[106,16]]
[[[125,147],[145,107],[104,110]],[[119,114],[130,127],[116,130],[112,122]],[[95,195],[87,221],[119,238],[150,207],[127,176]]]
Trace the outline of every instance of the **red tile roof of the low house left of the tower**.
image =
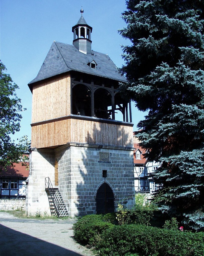
[[15,163],[14,166],[7,166],[6,170],[0,171],[0,177],[28,177],[29,175],[29,162]]

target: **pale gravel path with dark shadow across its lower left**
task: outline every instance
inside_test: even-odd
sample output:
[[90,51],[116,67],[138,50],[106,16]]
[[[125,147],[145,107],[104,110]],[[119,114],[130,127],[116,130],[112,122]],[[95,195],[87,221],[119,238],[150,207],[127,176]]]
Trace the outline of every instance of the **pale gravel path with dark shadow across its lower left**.
[[0,256],[91,256],[73,240],[75,220],[21,219],[0,212]]

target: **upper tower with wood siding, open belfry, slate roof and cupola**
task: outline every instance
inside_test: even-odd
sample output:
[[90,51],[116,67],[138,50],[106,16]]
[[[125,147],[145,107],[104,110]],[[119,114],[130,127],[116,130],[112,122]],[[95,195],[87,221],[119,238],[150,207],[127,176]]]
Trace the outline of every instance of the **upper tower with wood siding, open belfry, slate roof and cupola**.
[[[81,31],[84,36],[88,31],[88,38],[77,38]],[[108,55],[90,50],[92,28],[83,16],[73,32],[73,45],[53,42],[28,84],[33,93],[31,147],[83,143],[132,148],[130,103],[118,92],[126,79]],[[116,112],[122,121],[116,121]]]

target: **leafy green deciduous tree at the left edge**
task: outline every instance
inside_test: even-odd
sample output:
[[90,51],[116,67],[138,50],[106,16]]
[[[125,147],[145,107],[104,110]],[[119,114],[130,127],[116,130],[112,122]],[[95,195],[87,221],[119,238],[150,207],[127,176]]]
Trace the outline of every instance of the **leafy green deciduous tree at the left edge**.
[[23,109],[16,95],[18,86],[5,71],[6,67],[0,61],[0,169],[17,162],[29,147],[27,136],[22,137],[18,144],[9,136],[20,130]]

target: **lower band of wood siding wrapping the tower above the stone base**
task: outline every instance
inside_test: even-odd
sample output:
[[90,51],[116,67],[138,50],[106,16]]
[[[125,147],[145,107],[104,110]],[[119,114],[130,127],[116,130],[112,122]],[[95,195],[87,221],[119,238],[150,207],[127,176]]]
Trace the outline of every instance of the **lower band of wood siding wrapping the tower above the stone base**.
[[133,147],[132,134],[132,126],[65,119],[32,126],[31,147],[51,147],[68,142]]

